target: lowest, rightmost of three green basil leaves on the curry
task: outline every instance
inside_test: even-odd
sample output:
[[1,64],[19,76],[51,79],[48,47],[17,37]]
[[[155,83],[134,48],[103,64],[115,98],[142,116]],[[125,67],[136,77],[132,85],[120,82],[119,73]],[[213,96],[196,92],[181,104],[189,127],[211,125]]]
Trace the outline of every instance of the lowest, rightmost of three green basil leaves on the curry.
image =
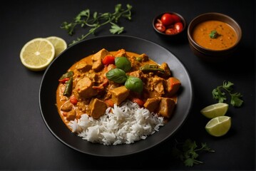
[[125,86],[129,90],[141,93],[143,90],[143,81],[140,78],[129,76],[126,80]]

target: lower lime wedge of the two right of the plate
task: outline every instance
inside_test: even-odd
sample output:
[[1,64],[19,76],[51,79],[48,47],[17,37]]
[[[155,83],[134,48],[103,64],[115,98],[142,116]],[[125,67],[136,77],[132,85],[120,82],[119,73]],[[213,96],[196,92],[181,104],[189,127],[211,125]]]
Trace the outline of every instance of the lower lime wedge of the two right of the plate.
[[211,119],[206,125],[205,130],[215,137],[225,135],[231,127],[231,118],[229,116],[217,116]]

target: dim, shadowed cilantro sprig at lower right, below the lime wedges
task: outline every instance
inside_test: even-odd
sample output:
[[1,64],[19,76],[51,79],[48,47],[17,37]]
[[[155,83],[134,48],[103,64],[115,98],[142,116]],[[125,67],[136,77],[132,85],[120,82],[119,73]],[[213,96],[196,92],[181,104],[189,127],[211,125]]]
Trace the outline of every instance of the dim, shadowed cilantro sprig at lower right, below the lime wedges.
[[176,140],[175,146],[172,150],[173,157],[181,160],[185,166],[192,167],[199,165],[203,162],[198,160],[199,152],[215,152],[215,150],[208,147],[206,143],[202,143],[198,147],[197,143],[193,140],[187,139],[185,142],[178,142]]

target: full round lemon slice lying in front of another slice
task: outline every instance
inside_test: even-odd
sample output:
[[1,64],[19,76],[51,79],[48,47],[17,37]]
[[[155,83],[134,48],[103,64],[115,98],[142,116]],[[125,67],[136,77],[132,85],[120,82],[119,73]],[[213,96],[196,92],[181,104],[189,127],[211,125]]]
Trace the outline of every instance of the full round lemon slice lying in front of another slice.
[[43,71],[53,61],[55,49],[46,38],[34,38],[21,48],[21,63],[31,71]]

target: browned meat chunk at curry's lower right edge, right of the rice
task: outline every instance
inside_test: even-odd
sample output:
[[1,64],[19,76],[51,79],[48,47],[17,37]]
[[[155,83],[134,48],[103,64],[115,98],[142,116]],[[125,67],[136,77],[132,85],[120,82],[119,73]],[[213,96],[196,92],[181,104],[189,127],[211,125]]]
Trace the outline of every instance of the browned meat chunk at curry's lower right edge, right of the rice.
[[158,115],[169,119],[173,114],[175,105],[175,100],[173,100],[172,98],[160,98],[160,103],[155,113],[158,113]]

